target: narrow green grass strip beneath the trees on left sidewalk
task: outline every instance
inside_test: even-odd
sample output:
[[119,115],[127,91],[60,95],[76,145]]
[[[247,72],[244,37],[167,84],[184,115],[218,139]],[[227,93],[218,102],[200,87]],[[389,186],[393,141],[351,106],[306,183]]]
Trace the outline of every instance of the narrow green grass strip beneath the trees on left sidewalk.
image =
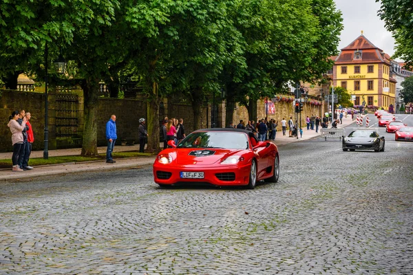
[[[114,159],[123,159],[125,157],[147,157],[152,155],[151,153],[139,153],[137,151],[117,152],[113,153]],[[66,162],[91,162],[94,160],[104,160],[106,154],[99,154],[96,157],[82,157],[81,155],[66,155],[61,157],[49,157],[43,159],[43,157],[30,158],[30,166],[50,165],[50,164],[62,164]],[[12,167],[11,159],[0,159],[0,168]]]

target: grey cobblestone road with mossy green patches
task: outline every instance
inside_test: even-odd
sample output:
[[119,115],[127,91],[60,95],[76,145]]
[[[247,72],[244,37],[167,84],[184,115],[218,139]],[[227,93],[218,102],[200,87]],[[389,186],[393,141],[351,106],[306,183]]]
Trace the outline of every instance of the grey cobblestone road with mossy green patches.
[[413,142],[379,131],[380,153],[279,146],[255,190],[164,190],[151,167],[1,184],[0,274],[413,274]]

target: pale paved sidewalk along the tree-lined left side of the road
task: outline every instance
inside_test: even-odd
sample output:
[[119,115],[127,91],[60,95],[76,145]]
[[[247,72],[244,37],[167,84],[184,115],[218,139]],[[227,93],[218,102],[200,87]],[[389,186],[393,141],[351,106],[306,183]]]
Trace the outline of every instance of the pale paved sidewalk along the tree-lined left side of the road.
[[[343,118],[343,124],[337,125],[338,128],[343,128],[349,124],[355,123],[352,121],[351,115],[347,118]],[[299,142],[301,140],[310,140],[313,137],[321,136],[321,133],[315,133],[315,130],[307,130],[306,124],[301,125],[303,129],[303,137],[288,137],[283,136],[282,131],[277,131],[274,144],[282,145],[291,142]],[[319,128],[321,129],[321,127]],[[163,146],[163,143],[160,144]],[[114,152],[123,151],[139,151],[139,145],[134,146],[115,146]],[[106,146],[98,147],[98,153],[105,153]],[[50,150],[49,156],[64,156],[64,155],[80,155],[81,148],[59,149]],[[33,151],[30,157],[43,157],[43,151]],[[0,153],[0,159],[11,159],[12,152]],[[81,173],[86,171],[98,171],[98,170],[117,170],[123,168],[140,168],[141,166],[151,165],[155,161],[156,156],[149,157],[134,157],[127,159],[116,159],[115,164],[107,164],[105,160],[97,160],[93,162],[71,162],[66,164],[54,164],[47,166],[35,166],[33,170],[27,170],[24,172],[12,172],[12,168],[8,170],[0,170],[0,182],[2,181],[19,181],[19,180],[32,180],[36,177],[43,177],[45,175],[65,175],[68,173]]]

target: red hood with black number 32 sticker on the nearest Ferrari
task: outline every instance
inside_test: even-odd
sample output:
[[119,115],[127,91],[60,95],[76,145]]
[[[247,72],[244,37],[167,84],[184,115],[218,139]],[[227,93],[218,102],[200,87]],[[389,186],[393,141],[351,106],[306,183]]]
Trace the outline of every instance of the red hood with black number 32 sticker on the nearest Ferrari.
[[242,150],[215,149],[215,148],[179,148],[176,149],[176,162],[180,165],[211,165],[235,155]]

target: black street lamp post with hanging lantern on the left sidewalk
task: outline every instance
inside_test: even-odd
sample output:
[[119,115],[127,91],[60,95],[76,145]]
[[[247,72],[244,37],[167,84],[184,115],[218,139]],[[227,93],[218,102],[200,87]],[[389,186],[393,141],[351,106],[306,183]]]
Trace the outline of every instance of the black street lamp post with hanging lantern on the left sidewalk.
[[[49,93],[47,91],[47,70],[49,68],[48,66],[48,58],[49,58],[49,47],[47,46],[47,42],[45,43],[45,148],[43,150],[43,159],[48,159],[49,158]],[[65,58],[63,58],[61,55],[59,55],[59,58],[56,59],[56,61],[53,62],[54,66],[56,67],[56,72],[58,74],[65,74],[65,69],[66,69],[66,61]]]

